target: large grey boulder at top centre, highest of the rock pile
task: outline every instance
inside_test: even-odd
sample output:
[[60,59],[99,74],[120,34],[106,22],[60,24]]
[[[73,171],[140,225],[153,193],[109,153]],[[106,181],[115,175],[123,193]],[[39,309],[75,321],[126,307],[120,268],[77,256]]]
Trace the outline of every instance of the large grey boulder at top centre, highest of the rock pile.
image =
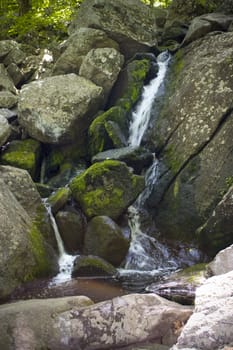
[[101,29],[119,43],[126,57],[132,57],[136,52],[149,51],[157,43],[156,17],[161,16],[165,17],[164,11],[152,10],[139,0],[86,0],[69,31],[73,33],[81,27]]

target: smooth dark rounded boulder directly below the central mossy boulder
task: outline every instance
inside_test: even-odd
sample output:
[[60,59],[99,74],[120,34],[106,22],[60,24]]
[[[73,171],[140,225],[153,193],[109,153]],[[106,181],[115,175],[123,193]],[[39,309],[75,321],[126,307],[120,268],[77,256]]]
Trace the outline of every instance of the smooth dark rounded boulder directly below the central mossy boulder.
[[96,216],[87,225],[84,252],[119,266],[129,248],[120,227],[107,216]]

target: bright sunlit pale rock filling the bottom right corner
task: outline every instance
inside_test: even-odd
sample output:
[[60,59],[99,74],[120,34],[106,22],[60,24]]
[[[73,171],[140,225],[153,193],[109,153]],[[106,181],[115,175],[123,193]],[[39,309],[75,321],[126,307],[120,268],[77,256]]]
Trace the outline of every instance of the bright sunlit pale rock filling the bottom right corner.
[[172,350],[228,349],[233,343],[232,282],[233,271],[211,277],[197,289],[194,313]]

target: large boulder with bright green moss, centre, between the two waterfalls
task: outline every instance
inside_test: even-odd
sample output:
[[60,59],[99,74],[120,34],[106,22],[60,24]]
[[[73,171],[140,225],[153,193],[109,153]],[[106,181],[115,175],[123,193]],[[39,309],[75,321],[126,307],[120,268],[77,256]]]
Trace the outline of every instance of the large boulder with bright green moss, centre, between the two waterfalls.
[[74,199],[88,218],[118,218],[144,188],[144,178],[134,175],[125,163],[105,160],[93,164],[70,183]]

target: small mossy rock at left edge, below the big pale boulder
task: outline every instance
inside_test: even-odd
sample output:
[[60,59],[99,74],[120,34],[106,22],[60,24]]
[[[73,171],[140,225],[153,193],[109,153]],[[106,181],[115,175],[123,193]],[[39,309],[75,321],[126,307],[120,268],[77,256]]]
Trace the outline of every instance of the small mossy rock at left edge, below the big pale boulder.
[[1,156],[2,164],[25,169],[34,180],[38,178],[40,160],[41,145],[33,139],[12,141]]

